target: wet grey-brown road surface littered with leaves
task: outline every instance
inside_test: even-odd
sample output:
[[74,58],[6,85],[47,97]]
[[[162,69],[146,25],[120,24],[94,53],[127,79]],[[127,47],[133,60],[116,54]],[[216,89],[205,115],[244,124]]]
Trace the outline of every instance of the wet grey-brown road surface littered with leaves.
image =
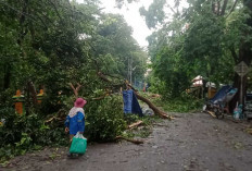
[[11,160],[7,171],[251,171],[250,123],[217,120],[206,113],[176,113],[155,123],[143,145],[127,142],[89,145],[85,156],[66,157],[50,148]]

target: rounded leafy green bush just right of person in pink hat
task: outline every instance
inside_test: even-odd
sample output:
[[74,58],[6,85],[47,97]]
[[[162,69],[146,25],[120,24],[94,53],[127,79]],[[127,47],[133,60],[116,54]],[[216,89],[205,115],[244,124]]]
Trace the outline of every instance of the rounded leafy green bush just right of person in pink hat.
[[108,96],[87,105],[86,136],[89,141],[114,141],[126,129],[122,96]]

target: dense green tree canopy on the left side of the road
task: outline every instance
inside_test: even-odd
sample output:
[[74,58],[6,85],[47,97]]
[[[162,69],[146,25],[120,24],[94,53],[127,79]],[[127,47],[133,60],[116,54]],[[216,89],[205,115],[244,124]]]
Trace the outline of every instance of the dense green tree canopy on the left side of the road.
[[[146,52],[131,37],[131,27],[115,14],[102,13],[98,1],[2,0],[1,91],[23,89],[28,81],[47,93],[65,89],[68,82],[104,88],[97,71],[127,78],[128,59],[146,71]],[[38,87],[37,87],[38,88]]]

